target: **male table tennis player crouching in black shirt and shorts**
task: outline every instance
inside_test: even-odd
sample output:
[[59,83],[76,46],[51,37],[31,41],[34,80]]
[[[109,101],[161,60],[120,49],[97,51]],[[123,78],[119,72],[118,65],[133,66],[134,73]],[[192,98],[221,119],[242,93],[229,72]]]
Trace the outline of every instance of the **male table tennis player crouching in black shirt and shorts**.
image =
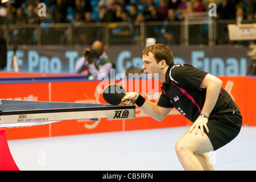
[[158,104],[135,92],[126,93],[122,104],[135,101],[157,121],[176,108],[193,122],[176,143],[176,153],[185,170],[213,170],[205,152],[215,151],[236,138],[242,116],[222,81],[189,64],[174,64],[174,56],[164,44],[153,44],[142,51],[142,69],[148,79],[158,74],[163,82]]

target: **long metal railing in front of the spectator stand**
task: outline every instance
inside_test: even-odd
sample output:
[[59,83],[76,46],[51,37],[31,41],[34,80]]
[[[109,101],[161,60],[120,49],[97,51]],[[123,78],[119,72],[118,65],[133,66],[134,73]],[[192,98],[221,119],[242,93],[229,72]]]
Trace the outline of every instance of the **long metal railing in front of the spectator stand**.
[[[107,46],[145,46],[147,38],[170,45],[234,44],[227,25],[236,20],[214,20],[208,13],[186,14],[179,22],[70,23],[2,25],[0,36],[9,46],[86,46],[102,40]],[[253,23],[243,21],[242,23]]]

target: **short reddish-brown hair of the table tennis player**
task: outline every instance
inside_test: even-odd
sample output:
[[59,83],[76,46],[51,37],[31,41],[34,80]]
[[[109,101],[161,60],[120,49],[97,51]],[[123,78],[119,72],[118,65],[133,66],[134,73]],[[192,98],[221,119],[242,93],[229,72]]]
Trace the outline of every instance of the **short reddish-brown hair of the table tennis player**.
[[164,44],[152,44],[143,49],[142,55],[147,55],[152,53],[155,56],[155,60],[159,63],[162,60],[166,60],[167,65],[174,63],[174,56],[172,55],[171,50]]

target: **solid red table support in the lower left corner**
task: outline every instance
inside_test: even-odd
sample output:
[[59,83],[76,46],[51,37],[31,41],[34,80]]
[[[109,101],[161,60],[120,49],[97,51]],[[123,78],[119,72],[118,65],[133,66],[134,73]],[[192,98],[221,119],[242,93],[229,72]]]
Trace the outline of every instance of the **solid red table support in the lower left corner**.
[[0,129],[0,171],[19,171],[10,152],[5,129]]

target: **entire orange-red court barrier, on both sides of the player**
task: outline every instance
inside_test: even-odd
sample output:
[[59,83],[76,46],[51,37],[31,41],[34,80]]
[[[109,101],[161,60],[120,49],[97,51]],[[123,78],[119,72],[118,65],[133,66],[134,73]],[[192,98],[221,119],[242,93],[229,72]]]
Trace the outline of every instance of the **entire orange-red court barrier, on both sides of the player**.
[[[256,79],[245,76],[224,76],[220,78],[223,81],[222,87],[231,94],[238,107],[240,107],[243,116],[243,125],[256,126],[253,115],[255,112],[254,104],[256,102],[256,97],[254,96]],[[157,102],[158,96],[161,93],[160,82],[154,85],[154,83],[144,82],[142,80],[133,80],[124,84],[126,85],[127,92],[139,92],[143,97],[152,102]],[[136,88],[136,85],[141,86]],[[101,81],[1,84],[0,86],[0,98],[2,99],[106,103],[100,93],[100,88],[104,88],[104,82]],[[150,88],[155,89],[154,92]],[[136,118],[127,121],[107,121],[104,118],[99,121],[62,121],[42,126],[7,128],[6,133],[7,139],[23,139],[110,131],[156,129],[185,125],[191,125],[191,122],[179,114],[176,109],[173,109],[163,121],[158,122],[148,117],[139,107],[136,107]]]

